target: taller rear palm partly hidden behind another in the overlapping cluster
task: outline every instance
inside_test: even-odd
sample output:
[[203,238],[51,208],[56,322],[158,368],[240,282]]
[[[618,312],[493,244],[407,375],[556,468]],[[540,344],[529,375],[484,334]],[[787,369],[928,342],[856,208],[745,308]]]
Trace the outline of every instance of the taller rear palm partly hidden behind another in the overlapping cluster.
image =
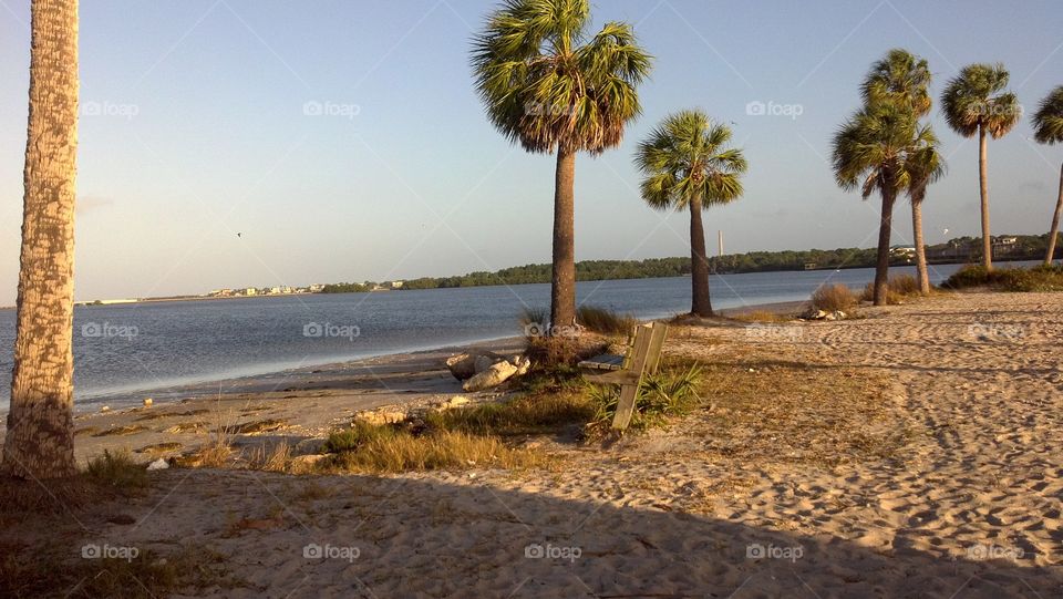
[[[861,92],[866,105],[892,102],[912,112],[916,117],[930,112],[930,66],[927,61],[912,55],[907,50],[894,49],[871,65],[864,80]],[[911,199],[911,230],[916,247],[916,269],[919,276],[919,289],[930,292],[930,275],[927,269],[927,251],[922,237],[922,200],[927,186],[937,180],[945,172],[943,159],[937,151],[938,141],[929,128],[920,130],[925,146],[910,156],[906,168],[912,175],[908,197]]]

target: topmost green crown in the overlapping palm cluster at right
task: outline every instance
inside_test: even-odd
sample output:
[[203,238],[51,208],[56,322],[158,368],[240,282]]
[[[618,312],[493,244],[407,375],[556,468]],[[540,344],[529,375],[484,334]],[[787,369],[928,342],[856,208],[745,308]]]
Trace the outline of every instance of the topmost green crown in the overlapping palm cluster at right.
[[930,112],[932,103],[928,90],[930,79],[930,66],[925,59],[895,48],[871,65],[860,92],[866,104],[900,102],[917,116],[923,116]]

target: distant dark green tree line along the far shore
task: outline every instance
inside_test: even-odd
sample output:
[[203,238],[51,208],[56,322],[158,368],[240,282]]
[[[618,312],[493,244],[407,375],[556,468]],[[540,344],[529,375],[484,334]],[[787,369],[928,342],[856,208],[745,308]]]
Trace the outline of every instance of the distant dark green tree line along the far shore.
[[[1013,244],[1000,240],[1014,238]],[[1040,260],[1047,248],[1045,235],[1005,235],[995,238],[995,258],[999,260]],[[1063,248],[1063,244],[1060,244]],[[981,259],[980,237],[958,237],[943,244],[927,246],[929,261],[973,262]],[[875,266],[875,248],[807,249],[785,251],[751,251],[709,258],[709,268],[718,275],[741,272],[771,272],[780,270],[870,268]],[[585,260],[576,262],[576,280],[601,281],[613,279],[656,279],[685,277],[691,272],[690,257],[649,258],[646,260]],[[914,264],[914,257],[897,252],[890,264]],[[491,285],[526,285],[550,282],[550,265],[526,265],[504,268],[494,272],[476,271],[455,277],[422,277],[402,282],[399,290],[451,289],[456,287],[483,287]],[[391,289],[390,283],[344,282],[324,286],[322,293],[361,293],[374,289]]]

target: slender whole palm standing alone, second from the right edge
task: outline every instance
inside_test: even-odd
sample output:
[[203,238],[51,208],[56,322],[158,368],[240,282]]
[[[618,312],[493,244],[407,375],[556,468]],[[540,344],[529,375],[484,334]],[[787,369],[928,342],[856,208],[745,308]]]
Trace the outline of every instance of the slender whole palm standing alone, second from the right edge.
[[945,120],[952,131],[964,137],[978,134],[978,180],[982,200],[982,265],[993,268],[992,237],[989,233],[989,174],[985,134],[999,140],[1019,122],[1022,109],[1008,86],[1009,74],[1003,64],[970,64],[949,81],[941,94]]

